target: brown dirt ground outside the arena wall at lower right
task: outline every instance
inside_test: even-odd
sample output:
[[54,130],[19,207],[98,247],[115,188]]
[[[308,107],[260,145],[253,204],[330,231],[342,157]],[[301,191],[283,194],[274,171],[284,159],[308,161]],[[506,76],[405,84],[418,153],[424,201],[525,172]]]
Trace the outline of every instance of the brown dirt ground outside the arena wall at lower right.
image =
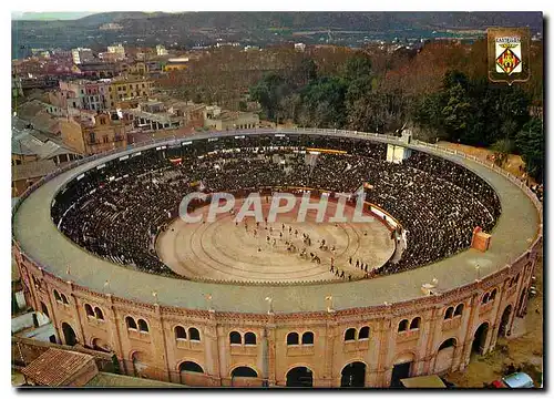
[[513,364],[540,387],[543,379],[543,258],[535,267],[536,296],[530,297],[527,315],[516,318],[510,338],[499,338],[495,349],[485,356],[473,356],[463,371],[451,372],[447,379],[459,387],[482,388],[503,377],[504,368]]

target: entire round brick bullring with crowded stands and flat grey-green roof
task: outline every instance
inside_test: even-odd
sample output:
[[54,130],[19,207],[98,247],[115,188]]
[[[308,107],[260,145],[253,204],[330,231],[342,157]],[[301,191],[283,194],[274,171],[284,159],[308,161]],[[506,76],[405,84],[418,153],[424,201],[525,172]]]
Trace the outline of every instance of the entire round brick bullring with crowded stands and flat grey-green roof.
[[[389,163],[399,149],[404,160]],[[284,249],[285,237],[269,248],[225,217],[178,218],[178,198],[198,183],[332,196],[366,181],[363,211],[376,223],[280,226],[310,235],[318,265]],[[475,224],[491,234],[485,252],[471,247]],[[321,239],[351,279],[329,272]],[[525,315],[541,247],[542,206],[506,172],[345,131],[127,147],[57,171],[13,211],[25,299],[60,342],[113,352],[129,375],[189,386],[389,387],[463,370]]]

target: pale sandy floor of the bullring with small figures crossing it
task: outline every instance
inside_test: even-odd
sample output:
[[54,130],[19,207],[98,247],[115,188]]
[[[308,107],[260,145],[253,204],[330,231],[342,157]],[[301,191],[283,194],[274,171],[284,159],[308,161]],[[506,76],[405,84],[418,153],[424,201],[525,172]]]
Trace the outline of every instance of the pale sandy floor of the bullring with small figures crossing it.
[[[236,213],[242,201],[237,201]],[[266,216],[268,205],[263,204],[263,207]],[[348,216],[349,212],[352,208],[345,214]],[[335,214],[334,203],[329,203],[327,214]],[[165,264],[187,278],[274,283],[348,280],[349,274],[353,280],[365,275],[356,267],[357,259],[367,264],[370,270],[384,264],[394,253],[389,231],[376,218],[371,223],[316,223],[314,211],[308,212],[306,222],[297,223],[297,215],[295,208],[278,215],[275,223],[260,223],[258,227],[253,217],[246,219],[246,226],[245,222],[236,225],[230,213],[218,215],[214,223],[187,224],[176,218],[160,234],[156,250]],[[311,246],[302,243],[302,234],[309,235]],[[327,249],[319,248],[322,239]],[[296,250],[289,252],[286,242],[296,246]],[[330,250],[332,246],[335,255]],[[301,257],[305,247],[307,256]],[[310,260],[310,253],[319,256],[320,264]],[[331,256],[335,267],[345,270],[345,278],[330,273]],[[350,257],[352,265],[349,265]]]

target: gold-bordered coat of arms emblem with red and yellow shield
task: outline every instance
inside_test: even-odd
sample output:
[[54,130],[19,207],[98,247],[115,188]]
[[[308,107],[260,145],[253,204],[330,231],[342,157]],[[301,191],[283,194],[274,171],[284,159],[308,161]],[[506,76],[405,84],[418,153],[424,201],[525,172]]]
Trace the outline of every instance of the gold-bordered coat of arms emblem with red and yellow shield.
[[529,29],[490,28],[489,79],[493,82],[529,80]]

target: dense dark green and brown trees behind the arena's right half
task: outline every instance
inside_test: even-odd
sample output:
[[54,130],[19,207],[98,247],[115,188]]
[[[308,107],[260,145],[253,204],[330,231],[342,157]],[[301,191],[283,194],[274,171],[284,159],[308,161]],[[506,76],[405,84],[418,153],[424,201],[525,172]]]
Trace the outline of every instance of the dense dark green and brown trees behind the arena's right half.
[[445,70],[442,82],[417,92],[406,81],[396,84],[390,70],[375,70],[367,52],[353,53],[335,73],[324,74],[307,57],[298,68],[265,74],[250,86],[250,99],[277,123],[378,133],[408,124],[422,137],[492,147],[501,162],[517,153],[529,174],[542,181],[542,120],[530,115],[536,104],[534,92],[491,83],[475,68],[471,74]]

